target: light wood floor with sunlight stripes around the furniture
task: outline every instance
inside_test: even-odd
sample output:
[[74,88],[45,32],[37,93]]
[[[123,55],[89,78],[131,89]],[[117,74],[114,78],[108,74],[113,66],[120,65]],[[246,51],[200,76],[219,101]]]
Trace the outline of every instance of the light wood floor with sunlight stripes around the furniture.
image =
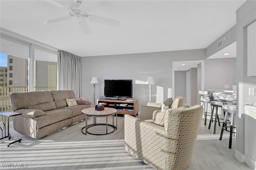
[[[88,119],[91,124],[92,118]],[[97,123],[106,119],[97,119]],[[109,119],[110,121],[110,119]],[[209,121],[207,121],[209,123]],[[20,135],[10,125],[10,134],[22,138],[21,143],[10,147],[0,144],[0,169],[7,164],[10,169],[31,170],[153,170],[124,150],[124,117],[118,116],[117,130],[109,135],[83,135],[81,133],[85,122],[82,121],[70,127],[43,137],[32,139]],[[104,127],[91,127],[88,131],[100,133]],[[109,127],[109,131],[112,127]],[[226,132],[228,133],[228,132]],[[208,129],[204,121],[200,127],[192,161],[186,170],[250,170],[244,163],[234,157],[236,145],[233,138],[232,149],[228,149],[228,135],[219,140],[220,127],[213,135],[213,125]],[[26,168],[18,168],[23,165]],[[8,169],[8,168],[6,168]]]

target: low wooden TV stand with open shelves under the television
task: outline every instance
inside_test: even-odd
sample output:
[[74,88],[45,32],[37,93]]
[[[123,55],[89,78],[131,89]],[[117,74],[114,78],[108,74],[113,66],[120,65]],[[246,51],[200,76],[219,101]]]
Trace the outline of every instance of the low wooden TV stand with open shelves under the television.
[[[137,115],[138,114],[138,100],[126,99],[126,100],[108,100],[97,99],[98,103],[106,103],[105,107],[112,107],[117,110],[118,114]],[[127,106],[123,106],[127,105]]]

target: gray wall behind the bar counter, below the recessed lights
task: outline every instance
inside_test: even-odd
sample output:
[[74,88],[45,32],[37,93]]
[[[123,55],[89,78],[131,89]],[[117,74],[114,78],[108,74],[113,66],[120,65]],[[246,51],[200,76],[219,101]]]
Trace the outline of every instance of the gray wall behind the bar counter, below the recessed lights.
[[229,84],[229,89],[236,84],[236,58],[206,59],[204,89],[224,89],[224,84]]

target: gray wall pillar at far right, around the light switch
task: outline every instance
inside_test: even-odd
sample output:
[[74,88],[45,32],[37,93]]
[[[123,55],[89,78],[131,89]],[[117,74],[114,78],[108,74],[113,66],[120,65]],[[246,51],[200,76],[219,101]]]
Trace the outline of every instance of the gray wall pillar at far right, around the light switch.
[[[256,86],[256,76],[247,76],[247,26],[256,21],[256,1],[247,0],[236,11],[236,152],[244,154],[244,103],[253,103],[256,96],[248,96],[248,88]],[[242,160],[242,158],[240,158]]]

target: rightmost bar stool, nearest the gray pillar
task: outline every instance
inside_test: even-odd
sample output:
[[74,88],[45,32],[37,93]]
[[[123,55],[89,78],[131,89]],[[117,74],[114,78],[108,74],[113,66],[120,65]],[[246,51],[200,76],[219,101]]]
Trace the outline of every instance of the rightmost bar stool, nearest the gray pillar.
[[[222,140],[223,136],[223,131],[229,131],[229,145],[228,148],[231,149],[232,146],[232,136],[233,133],[235,134],[236,132],[233,132],[236,127],[233,127],[234,124],[234,114],[236,114],[236,94],[220,94],[220,99],[222,100],[222,103],[224,104],[222,106],[223,112],[224,112],[224,120],[223,120],[223,125],[220,133],[220,140]],[[228,114],[225,114],[228,113]],[[230,120],[230,126],[226,125],[226,120],[227,120],[227,115],[229,116]],[[230,130],[227,130],[226,127],[230,127]]]

